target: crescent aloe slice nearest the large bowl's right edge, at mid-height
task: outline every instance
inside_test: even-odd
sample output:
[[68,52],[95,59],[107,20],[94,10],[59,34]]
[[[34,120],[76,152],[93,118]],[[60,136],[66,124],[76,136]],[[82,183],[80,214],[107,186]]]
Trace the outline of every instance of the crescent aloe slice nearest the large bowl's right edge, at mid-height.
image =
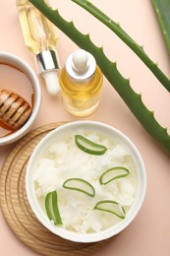
[[114,179],[126,177],[129,174],[130,170],[128,168],[115,166],[104,171],[99,178],[99,182],[101,185],[105,185]]

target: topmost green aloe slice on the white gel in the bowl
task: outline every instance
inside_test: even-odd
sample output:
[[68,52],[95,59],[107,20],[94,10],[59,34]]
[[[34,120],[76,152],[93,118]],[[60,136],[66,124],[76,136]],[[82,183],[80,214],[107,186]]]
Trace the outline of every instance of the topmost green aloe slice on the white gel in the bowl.
[[107,151],[105,146],[94,143],[82,135],[75,135],[75,143],[80,150],[90,155],[100,156]]

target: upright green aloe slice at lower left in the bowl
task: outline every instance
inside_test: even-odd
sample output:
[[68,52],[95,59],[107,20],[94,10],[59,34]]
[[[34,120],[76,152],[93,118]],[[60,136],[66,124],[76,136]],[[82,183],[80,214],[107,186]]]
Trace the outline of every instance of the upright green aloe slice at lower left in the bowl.
[[50,221],[54,224],[63,224],[58,208],[57,191],[49,192],[45,197],[45,210]]

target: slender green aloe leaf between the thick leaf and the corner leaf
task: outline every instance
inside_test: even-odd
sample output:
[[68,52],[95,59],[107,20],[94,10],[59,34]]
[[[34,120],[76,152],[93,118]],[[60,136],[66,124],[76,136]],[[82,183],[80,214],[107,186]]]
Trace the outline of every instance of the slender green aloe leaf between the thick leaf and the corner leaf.
[[[157,2],[160,2],[160,1],[157,1]],[[95,7],[92,3],[90,3],[87,0],[72,0],[72,2],[75,2],[76,4],[82,6],[88,13],[90,13],[97,20],[99,20],[104,25],[106,25],[112,32],[115,32],[141,58],[142,62],[154,74],[154,76],[166,88],[166,90],[170,92],[170,80],[158,68],[157,64],[154,63],[148,57],[148,55],[144,52],[142,46],[140,46],[136,41],[134,41],[133,38],[130,37],[130,35],[120,27],[119,24],[115,23],[103,12],[101,12],[101,10],[99,10],[97,7]],[[169,6],[170,6],[170,2],[169,2]],[[169,21],[169,28],[170,28],[170,21]]]

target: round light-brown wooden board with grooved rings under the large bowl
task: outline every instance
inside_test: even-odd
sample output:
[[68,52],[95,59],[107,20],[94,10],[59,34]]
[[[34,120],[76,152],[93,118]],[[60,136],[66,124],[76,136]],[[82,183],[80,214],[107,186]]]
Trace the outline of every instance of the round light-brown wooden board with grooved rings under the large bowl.
[[65,240],[40,224],[28,204],[25,187],[28,159],[37,143],[62,124],[53,123],[35,129],[12,150],[0,173],[1,209],[13,232],[34,251],[47,256],[91,255],[106,241],[76,243]]

